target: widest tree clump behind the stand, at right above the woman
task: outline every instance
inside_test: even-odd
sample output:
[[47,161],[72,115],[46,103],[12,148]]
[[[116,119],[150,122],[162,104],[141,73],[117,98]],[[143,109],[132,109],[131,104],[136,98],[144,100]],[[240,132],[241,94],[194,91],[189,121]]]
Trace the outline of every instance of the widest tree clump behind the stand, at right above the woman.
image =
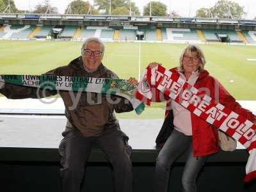
[[196,11],[196,17],[216,17],[220,19],[242,19],[244,8],[238,3],[220,0],[211,8],[200,8]]

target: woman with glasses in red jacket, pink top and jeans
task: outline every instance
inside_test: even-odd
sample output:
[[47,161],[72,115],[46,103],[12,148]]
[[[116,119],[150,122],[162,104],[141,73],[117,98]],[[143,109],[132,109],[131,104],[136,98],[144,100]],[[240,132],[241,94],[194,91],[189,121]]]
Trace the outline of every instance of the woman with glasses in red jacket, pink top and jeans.
[[[159,63],[153,62],[149,64],[149,67],[156,67],[156,65]],[[204,66],[205,57],[202,50],[196,45],[188,45],[180,55],[180,66],[170,69],[170,72],[186,79],[202,94],[209,95],[212,99],[255,123],[256,117],[252,112],[243,109],[218,80],[209,75]],[[156,102],[161,102],[159,93],[156,90]],[[174,129],[157,157],[154,191],[168,191],[172,165],[182,154],[186,153],[188,159],[182,175],[182,190],[195,192],[196,177],[204,165],[205,159],[219,150],[217,129],[174,100],[168,100],[166,106],[166,116],[170,113],[170,109],[173,111],[173,118],[169,123],[173,122]]]

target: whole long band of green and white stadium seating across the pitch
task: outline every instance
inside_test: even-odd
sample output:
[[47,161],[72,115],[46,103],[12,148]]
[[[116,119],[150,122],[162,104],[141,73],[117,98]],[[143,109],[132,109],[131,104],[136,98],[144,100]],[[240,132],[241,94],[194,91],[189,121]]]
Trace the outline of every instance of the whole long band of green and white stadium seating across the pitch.
[[[46,38],[51,34],[54,26],[42,26],[40,31],[35,33],[35,38]],[[102,40],[113,40],[115,29],[102,26],[87,26],[81,28],[79,35],[74,36],[77,31],[77,26],[65,26],[58,38],[88,38],[96,36]],[[8,25],[3,30],[0,30],[0,38],[29,38],[33,33],[35,26],[30,25]],[[38,29],[39,30],[39,29]],[[117,30],[118,38],[115,40],[136,40],[136,31],[138,28],[124,28]],[[168,42],[202,42],[202,38],[198,35],[196,29],[183,28],[162,28],[159,29],[157,36],[156,29],[140,29],[143,31],[143,40],[157,41],[163,40]],[[241,33],[241,35],[239,35]],[[202,29],[202,35],[205,41],[208,42],[238,42],[238,43],[256,43],[256,31],[237,31],[224,29]],[[31,36],[30,36],[31,37]],[[244,38],[241,38],[244,37]],[[204,42],[204,41],[203,41]]]

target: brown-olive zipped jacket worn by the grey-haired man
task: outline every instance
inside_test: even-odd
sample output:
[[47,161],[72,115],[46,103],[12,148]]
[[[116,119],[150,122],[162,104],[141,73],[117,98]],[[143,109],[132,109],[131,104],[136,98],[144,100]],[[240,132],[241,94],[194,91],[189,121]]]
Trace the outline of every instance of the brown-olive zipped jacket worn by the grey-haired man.
[[[67,66],[58,67],[46,73],[53,76],[77,76],[77,77],[100,77],[118,79],[118,76],[100,63],[95,72],[84,69],[81,56],[71,61]],[[37,93],[36,93],[37,92]],[[6,83],[0,93],[8,99],[42,98],[56,95],[56,90],[47,90],[43,95],[42,90],[25,86],[17,86]],[[131,103],[124,98],[102,95],[88,92],[60,91],[60,96],[65,104],[65,115],[68,122],[63,134],[71,129],[79,129],[84,136],[100,136],[107,132],[120,130],[116,113],[132,111]],[[111,98],[110,98],[111,97]],[[111,100],[114,102],[111,102]],[[118,102],[118,100],[120,100]],[[109,102],[110,101],[110,102]]]

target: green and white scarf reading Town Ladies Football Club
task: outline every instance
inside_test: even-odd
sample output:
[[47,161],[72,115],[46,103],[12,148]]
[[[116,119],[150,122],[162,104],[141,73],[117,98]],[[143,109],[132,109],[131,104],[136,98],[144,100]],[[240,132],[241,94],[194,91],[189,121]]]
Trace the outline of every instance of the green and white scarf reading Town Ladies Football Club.
[[133,94],[134,86],[124,79],[69,76],[0,75],[0,82],[48,90],[93,92],[117,95],[128,99],[137,114],[145,105]]

